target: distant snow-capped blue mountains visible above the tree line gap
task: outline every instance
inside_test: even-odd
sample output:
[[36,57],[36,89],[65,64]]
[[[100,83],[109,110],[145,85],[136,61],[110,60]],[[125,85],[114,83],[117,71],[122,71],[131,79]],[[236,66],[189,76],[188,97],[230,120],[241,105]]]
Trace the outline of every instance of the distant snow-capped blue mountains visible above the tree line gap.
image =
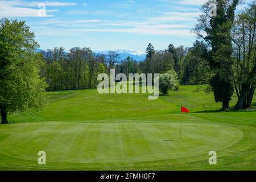
[[[101,53],[104,55],[108,55],[109,51],[110,50],[94,51],[94,53]],[[142,61],[146,57],[145,51],[134,51],[134,50],[125,50],[125,49],[114,49],[112,51],[119,53],[119,61],[126,59],[128,56],[133,57],[133,59],[137,61]]]

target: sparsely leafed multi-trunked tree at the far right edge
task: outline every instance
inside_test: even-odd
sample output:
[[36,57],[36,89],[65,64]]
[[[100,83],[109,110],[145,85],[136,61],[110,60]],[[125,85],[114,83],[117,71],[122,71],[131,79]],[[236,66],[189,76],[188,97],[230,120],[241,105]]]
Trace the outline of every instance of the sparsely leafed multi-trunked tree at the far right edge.
[[256,88],[256,3],[237,15],[232,30],[236,109],[251,106]]

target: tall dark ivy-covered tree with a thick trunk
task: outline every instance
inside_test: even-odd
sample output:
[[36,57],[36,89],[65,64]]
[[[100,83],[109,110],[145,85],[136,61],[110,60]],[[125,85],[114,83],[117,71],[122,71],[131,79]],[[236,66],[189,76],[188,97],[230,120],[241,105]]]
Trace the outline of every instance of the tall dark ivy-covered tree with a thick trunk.
[[[217,5],[217,16],[208,15],[209,3]],[[203,7],[203,14],[195,32],[209,44],[208,61],[214,75],[210,79],[216,102],[222,102],[222,109],[229,109],[234,92],[232,35],[235,10],[239,0],[209,1]]]

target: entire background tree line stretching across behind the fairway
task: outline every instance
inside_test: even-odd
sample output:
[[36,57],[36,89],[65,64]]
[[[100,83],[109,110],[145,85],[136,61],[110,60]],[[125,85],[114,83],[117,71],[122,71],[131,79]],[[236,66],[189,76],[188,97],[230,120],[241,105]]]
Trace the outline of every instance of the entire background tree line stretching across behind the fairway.
[[[48,49],[39,53],[40,75],[46,78],[47,90],[97,88],[100,73],[167,73],[175,71],[181,85],[207,84],[205,75],[209,68],[202,55],[205,44],[196,41],[191,48],[172,44],[164,51],[155,51],[150,43],[143,61],[127,57],[119,60],[119,54],[109,51],[108,55],[96,54],[90,48],[75,47],[65,52],[64,48]],[[204,74],[203,74],[204,73]]]

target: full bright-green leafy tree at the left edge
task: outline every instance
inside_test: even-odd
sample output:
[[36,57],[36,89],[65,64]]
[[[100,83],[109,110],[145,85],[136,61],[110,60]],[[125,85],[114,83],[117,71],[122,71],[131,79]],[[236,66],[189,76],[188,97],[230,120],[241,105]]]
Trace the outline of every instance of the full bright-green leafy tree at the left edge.
[[0,22],[0,109],[2,123],[7,113],[29,107],[40,109],[45,103],[46,82],[39,75],[40,57],[25,22],[1,19]]

